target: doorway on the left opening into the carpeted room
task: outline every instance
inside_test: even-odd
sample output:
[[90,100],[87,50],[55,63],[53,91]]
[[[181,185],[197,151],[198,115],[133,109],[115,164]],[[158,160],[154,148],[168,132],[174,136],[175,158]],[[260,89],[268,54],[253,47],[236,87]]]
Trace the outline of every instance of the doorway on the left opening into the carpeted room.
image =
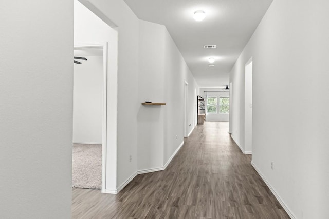
[[101,189],[106,179],[107,43],[75,45],[72,187]]

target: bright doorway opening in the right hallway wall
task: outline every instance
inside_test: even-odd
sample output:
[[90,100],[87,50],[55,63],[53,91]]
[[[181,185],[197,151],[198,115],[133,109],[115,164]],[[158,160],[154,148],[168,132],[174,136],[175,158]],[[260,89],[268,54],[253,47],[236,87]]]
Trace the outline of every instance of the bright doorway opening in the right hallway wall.
[[245,154],[252,153],[252,57],[245,66]]

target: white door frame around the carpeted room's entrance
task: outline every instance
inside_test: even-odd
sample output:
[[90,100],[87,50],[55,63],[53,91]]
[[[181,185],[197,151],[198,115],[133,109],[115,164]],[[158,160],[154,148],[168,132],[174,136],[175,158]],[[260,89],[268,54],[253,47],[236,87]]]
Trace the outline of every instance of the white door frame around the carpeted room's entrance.
[[102,81],[102,189],[106,190],[106,134],[107,134],[107,42],[75,44],[76,49],[102,49],[103,50],[103,81]]

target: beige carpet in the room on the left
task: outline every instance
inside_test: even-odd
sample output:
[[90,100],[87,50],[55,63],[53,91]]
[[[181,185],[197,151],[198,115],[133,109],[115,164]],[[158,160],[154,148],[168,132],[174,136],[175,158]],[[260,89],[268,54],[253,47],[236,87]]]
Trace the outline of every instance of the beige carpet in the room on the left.
[[72,187],[101,189],[102,145],[73,144]]

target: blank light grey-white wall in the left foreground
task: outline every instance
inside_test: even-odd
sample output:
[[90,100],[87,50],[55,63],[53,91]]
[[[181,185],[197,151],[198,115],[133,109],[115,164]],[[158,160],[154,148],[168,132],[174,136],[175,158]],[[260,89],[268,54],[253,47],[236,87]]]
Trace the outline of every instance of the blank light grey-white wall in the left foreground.
[[0,217],[70,218],[73,3],[2,3]]

